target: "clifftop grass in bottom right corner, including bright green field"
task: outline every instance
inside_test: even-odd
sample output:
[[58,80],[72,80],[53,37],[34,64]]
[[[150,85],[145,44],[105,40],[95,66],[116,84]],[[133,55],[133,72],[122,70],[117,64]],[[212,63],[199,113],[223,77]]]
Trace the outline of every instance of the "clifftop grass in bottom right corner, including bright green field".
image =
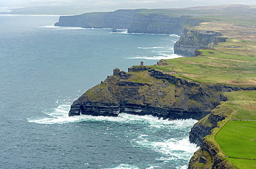
[[[256,91],[229,92],[228,106],[236,110],[228,123],[217,133],[215,140],[228,161],[237,168],[256,168]],[[253,160],[249,160],[253,159]]]

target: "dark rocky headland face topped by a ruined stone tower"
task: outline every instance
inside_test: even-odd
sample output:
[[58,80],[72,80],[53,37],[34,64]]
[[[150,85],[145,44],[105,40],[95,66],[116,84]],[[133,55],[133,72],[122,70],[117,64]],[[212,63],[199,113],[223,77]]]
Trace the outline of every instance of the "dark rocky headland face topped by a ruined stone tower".
[[121,112],[154,115],[163,119],[201,119],[226,97],[208,86],[134,66],[115,69],[108,77],[73,102],[69,116],[118,116]]

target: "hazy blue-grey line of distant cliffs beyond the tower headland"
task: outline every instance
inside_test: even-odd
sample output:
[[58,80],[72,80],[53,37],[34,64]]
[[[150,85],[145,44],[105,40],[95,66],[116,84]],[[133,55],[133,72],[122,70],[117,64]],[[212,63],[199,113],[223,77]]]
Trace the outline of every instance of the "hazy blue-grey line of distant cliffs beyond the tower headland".
[[114,12],[92,12],[75,16],[62,16],[55,26],[82,28],[127,29],[129,33],[184,35],[174,46],[175,54],[194,57],[195,50],[223,41],[221,34],[210,31],[187,30],[207,20],[192,15],[163,14],[145,10],[116,10]]

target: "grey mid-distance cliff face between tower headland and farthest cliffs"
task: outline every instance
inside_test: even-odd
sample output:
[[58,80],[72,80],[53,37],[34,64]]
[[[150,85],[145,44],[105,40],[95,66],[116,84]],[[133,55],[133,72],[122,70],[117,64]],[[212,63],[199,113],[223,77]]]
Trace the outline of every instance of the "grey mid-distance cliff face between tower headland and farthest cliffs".
[[174,44],[174,53],[194,57],[195,50],[210,48],[213,44],[226,41],[221,34],[212,31],[184,30],[184,36]]

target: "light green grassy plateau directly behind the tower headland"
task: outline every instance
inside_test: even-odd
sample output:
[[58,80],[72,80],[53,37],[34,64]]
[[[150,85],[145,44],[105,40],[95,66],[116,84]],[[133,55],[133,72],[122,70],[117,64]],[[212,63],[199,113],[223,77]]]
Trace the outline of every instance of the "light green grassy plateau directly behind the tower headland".
[[178,72],[176,76],[202,83],[256,85],[255,57],[225,54],[215,49],[201,50],[203,56],[165,60],[170,66],[158,70]]

